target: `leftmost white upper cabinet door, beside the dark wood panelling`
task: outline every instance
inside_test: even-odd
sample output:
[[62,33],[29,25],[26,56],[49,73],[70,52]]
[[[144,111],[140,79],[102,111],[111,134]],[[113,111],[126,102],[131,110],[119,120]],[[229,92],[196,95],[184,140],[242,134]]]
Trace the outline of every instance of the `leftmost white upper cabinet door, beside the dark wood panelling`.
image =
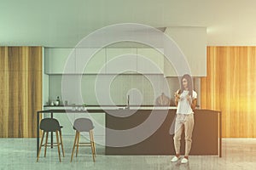
[[45,48],[44,72],[46,74],[74,74],[75,51],[73,48]]

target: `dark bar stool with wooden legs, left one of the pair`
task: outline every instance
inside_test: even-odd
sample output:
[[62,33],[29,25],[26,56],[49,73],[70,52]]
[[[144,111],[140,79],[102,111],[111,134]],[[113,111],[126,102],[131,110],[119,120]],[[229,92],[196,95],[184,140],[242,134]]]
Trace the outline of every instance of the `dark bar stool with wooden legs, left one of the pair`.
[[[44,157],[46,156],[46,148],[48,146],[58,146],[59,160],[61,161],[60,145],[61,145],[61,150],[62,150],[63,157],[64,157],[64,150],[63,150],[60,123],[55,118],[44,118],[40,122],[40,129],[43,130],[43,137],[41,139],[40,147],[39,147],[39,150],[38,150],[38,159],[39,159],[39,155],[40,155],[40,151],[41,151],[42,146],[44,146]],[[55,145],[48,143],[48,134],[49,134],[49,132],[55,132],[56,133],[57,143]],[[45,133],[46,133],[46,138],[45,138],[45,143],[43,144]],[[59,133],[60,133],[61,143],[59,141]],[[37,159],[37,161],[38,161],[38,159]]]

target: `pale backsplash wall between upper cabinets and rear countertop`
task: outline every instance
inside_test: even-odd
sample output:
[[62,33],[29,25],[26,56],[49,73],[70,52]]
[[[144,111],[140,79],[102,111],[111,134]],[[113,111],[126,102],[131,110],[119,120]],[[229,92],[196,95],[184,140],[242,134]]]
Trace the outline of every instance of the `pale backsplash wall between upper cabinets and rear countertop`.
[[[69,105],[126,105],[128,95],[130,105],[154,105],[155,99],[162,93],[171,98],[171,104],[173,105],[173,94],[179,88],[177,77],[165,78],[163,75],[67,75],[65,77],[68,78],[68,83],[71,83],[68,86],[71,88],[65,89],[65,100]],[[61,104],[63,104],[61,81],[62,75],[49,76],[49,101],[60,96]],[[80,87],[72,84],[76,81],[80,81]],[[195,91],[198,93],[198,105],[200,105],[199,77],[194,78],[194,84]],[[75,88],[81,88],[81,93],[78,94]],[[83,99],[82,103],[78,96]],[[48,99],[45,96],[44,105],[46,105]]]

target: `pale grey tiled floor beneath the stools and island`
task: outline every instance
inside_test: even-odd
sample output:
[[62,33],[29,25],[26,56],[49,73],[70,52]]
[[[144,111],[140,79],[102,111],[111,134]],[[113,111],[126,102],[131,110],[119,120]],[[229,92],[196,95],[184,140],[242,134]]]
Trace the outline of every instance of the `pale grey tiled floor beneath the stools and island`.
[[190,156],[186,165],[170,162],[171,156],[104,156],[101,146],[96,148],[95,163],[90,148],[79,150],[79,156],[70,162],[73,138],[65,138],[63,143],[66,156],[62,162],[55,148],[48,150],[46,157],[41,153],[36,162],[36,139],[0,139],[0,169],[256,169],[256,139],[224,139],[222,158]]

